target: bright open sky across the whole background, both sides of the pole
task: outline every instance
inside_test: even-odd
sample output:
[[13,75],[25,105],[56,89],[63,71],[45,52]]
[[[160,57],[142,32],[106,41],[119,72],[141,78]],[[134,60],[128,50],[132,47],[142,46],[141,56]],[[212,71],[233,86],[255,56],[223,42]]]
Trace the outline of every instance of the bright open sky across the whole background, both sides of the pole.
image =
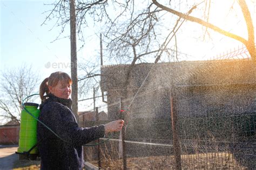
[[[41,80],[49,77],[50,73],[55,71],[64,71],[70,74],[70,39],[63,38],[54,41],[60,32],[60,28],[53,28],[55,19],[42,25],[47,16],[44,12],[52,9],[52,6],[45,4],[51,2],[49,0],[1,0],[0,71],[15,69],[26,64],[33,66],[33,69],[41,75]],[[230,1],[216,1],[216,5],[219,5],[218,2],[228,3]],[[255,0],[247,0],[247,2],[250,3],[248,6],[252,12],[255,26],[256,2]],[[234,22],[227,22],[221,18],[223,17],[221,11],[225,11],[224,8],[225,5],[219,5],[218,10],[213,11],[215,15],[211,22],[224,25],[233,23],[233,25],[228,25],[228,28],[232,32],[246,37],[244,23],[237,19],[234,19]],[[190,22],[186,22],[186,24],[187,28],[194,28],[196,25]],[[198,29],[200,28],[199,26]],[[197,32],[194,29],[183,30],[184,36],[179,37],[179,43],[182,44],[179,51],[190,55],[191,58],[188,60],[208,59],[241,45],[235,40],[214,32],[212,32],[213,40],[207,43],[193,37],[188,38],[187,35],[193,33]],[[69,27],[60,37],[68,35]],[[86,28],[85,40],[86,44],[82,50],[78,51],[77,57],[90,60],[99,52],[99,28],[97,29],[96,26]]]

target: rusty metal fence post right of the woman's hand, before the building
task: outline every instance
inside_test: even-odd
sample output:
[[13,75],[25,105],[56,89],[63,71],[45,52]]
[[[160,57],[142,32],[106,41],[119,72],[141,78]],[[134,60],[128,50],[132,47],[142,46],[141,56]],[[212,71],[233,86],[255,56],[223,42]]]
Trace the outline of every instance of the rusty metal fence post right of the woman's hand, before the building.
[[177,127],[177,97],[174,92],[171,92],[171,119],[172,119],[172,136],[174,147],[174,158],[176,169],[181,169],[181,151],[179,145],[178,127]]

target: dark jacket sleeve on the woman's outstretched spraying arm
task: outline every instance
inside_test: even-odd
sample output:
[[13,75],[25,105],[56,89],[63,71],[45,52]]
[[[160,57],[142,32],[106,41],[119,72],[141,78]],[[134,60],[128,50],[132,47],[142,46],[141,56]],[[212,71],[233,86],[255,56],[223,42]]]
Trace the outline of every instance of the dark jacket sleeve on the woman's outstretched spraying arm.
[[[45,105],[41,112],[41,120],[43,123],[50,127],[61,140],[71,145],[84,145],[104,137],[104,125],[81,128],[78,127],[73,116],[73,113],[68,107],[58,103]],[[52,133],[50,130],[48,131]]]

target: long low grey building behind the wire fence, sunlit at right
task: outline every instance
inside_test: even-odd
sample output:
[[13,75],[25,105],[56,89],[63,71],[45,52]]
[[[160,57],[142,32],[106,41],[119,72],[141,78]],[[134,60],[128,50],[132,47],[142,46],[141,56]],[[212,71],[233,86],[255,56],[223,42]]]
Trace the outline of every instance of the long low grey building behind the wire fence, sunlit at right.
[[[129,65],[102,67],[100,83],[107,93],[110,120],[120,117],[128,69]],[[255,133],[255,116],[238,117],[255,115],[256,111],[256,66],[251,59],[142,63],[134,65],[130,75],[127,97],[122,101],[133,128],[130,132],[141,131],[131,134],[133,138],[170,138],[170,123],[156,125],[170,122],[171,97],[176,101],[180,136],[184,138],[207,133],[231,138],[234,131],[240,133],[238,128],[243,128],[244,134]],[[165,132],[159,133],[159,129]]]

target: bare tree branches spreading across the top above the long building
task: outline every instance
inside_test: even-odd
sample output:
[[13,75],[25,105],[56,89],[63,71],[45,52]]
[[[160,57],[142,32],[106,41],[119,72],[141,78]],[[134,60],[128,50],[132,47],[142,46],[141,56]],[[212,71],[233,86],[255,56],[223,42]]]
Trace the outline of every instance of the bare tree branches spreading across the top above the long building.
[[[211,29],[245,44],[255,63],[253,22],[245,0],[233,1],[233,4],[237,3],[240,6],[247,25],[247,30],[245,30],[248,33],[247,39],[209,22],[209,18],[212,16],[210,12],[212,3],[213,1],[210,0],[200,2],[196,0],[186,2],[78,0],[76,2],[78,38],[82,42],[84,41],[82,30],[91,21],[105,23],[103,33],[107,49],[104,51],[104,56],[116,64],[130,64],[126,75],[126,87],[134,64],[152,62],[152,60],[157,63],[163,57],[178,59],[177,35],[185,21],[196,22],[204,26],[205,33],[209,33],[208,29]],[[231,9],[232,6],[230,6]],[[180,10],[185,12],[179,12]],[[66,24],[70,22],[68,11],[68,1],[57,1],[53,4],[53,10],[49,11],[45,22],[47,19],[56,17],[58,18],[56,25],[61,26],[64,30]],[[196,12],[198,17],[193,17],[193,13]],[[95,69],[96,65],[93,63],[86,65],[85,74],[78,78],[82,84],[80,87],[85,87],[85,80],[91,84],[97,83],[99,79],[96,77],[100,76],[100,72],[99,69]],[[93,78],[94,83],[89,81],[89,78]],[[124,96],[126,95],[124,94]]]

